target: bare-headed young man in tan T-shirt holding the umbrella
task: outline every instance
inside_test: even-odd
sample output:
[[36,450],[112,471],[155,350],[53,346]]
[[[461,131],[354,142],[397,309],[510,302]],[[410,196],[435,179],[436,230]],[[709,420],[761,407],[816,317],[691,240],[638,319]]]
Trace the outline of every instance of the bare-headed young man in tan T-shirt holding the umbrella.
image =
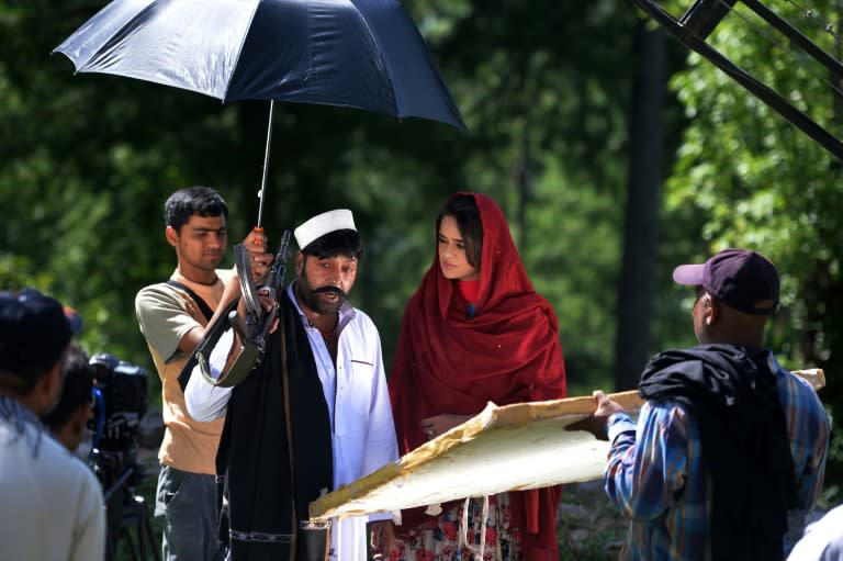
[[[228,206],[214,189],[187,187],[164,204],[165,238],[176,250],[176,270],[166,282],[140,289],[135,313],[161,379],[164,439],[155,515],[164,517],[165,561],[215,561],[222,556],[217,538],[216,469],[214,458],[223,420],[196,423],[186,412],[178,375],[205,327],[221,306],[232,269],[218,269],[228,245]],[[249,234],[252,274],[266,274],[272,260],[266,239]]]

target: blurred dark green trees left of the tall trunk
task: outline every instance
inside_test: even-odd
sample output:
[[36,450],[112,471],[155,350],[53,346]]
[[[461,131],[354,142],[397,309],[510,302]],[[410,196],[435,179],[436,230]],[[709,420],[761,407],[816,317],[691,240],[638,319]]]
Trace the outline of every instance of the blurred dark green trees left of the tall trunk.
[[[79,310],[90,351],[108,350],[151,371],[133,300],[173,267],[161,204],[173,189],[211,184],[232,206],[232,243],[245,236],[257,210],[267,104],[221,106],[137,80],[74,76],[63,55],[47,55],[99,5],[69,2],[44,19],[37,2],[13,4],[0,20],[4,52],[16,53],[0,67],[0,144],[8,154],[0,235],[4,262],[21,262],[2,283],[40,283]],[[355,210],[368,255],[353,300],[381,326],[387,363],[404,302],[432,257],[438,206],[457,190],[476,190],[501,201],[536,285],[562,306],[572,378],[608,372],[611,357],[603,349],[612,333],[611,307],[587,310],[594,279],[617,274],[619,209],[612,202],[625,170],[627,103],[617,69],[629,66],[623,21],[633,14],[612,5],[408,2],[437,51],[469,137],[417,120],[277,108],[265,199],[270,243],[314,212]],[[546,25],[535,25],[538,13],[548,15]],[[581,24],[587,33],[575,33]],[[593,42],[592,33],[606,41]],[[578,165],[561,165],[561,154]],[[570,198],[558,199],[557,189],[571,189]],[[571,242],[546,250],[543,240],[561,239],[559,213],[569,215]],[[572,242],[588,231],[605,256],[599,269],[577,267],[589,246]],[[584,277],[560,282],[562,270]],[[610,302],[610,293],[596,298]]]

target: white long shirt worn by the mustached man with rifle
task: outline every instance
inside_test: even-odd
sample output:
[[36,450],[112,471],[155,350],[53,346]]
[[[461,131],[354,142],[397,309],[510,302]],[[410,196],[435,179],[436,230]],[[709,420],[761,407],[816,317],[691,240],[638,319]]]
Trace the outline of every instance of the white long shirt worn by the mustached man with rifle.
[[[334,489],[360,479],[398,459],[395,425],[383,369],[381,337],[374,323],[348,303],[339,312],[337,368],[315,327],[311,327],[295,302],[293,285],[286,289],[307,333],[325,401],[328,404],[334,447]],[[231,329],[217,341],[210,357],[211,373],[218,377],[232,347]],[[212,420],[225,414],[231,388],[207,383],[193,370],[184,390],[188,413],[196,420]],[[336,395],[336,397],[335,397]],[[366,561],[368,521],[389,520],[391,513],[334,520],[331,559]]]

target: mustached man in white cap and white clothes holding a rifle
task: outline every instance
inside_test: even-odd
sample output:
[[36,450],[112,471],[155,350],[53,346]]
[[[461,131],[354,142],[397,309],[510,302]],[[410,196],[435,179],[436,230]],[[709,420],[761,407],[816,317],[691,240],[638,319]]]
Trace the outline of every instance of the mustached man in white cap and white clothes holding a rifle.
[[[310,559],[299,528],[310,503],[398,458],[380,335],[347,301],[363,253],[353,216],[329,211],[294,235],[295,279],[277,304],[265,301],[279,306],[279,322],[258,367],[233,389],[196,369],[184,392],[194,418],[226,416],[217,464],[227,472],[235,561]],[[231,329],[220,338],[212,377],[226,368],[234,343]],[[335,520],[330,559],[366,561],[367,523],[375,548],[390,551],[391,518]]]

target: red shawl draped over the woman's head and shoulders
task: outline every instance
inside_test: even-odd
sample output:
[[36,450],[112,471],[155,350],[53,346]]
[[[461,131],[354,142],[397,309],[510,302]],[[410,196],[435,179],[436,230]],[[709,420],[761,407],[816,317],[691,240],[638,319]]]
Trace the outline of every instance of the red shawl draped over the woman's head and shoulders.
[[[474,415],[490,401],[507,405],[566,395],[553,308],[527,278],[501,209],[486,195],[468,194],[474,197],[483,223],[476,312],[468,318],[464,300],[434,255],[404,311],[390,372],[402,455],[427,441],[419,428],[425,417]],[[557,486],[510,494],[513,526],[522,531],[526,559],[544,559],[541,550],[557,559],[560,491]]]

